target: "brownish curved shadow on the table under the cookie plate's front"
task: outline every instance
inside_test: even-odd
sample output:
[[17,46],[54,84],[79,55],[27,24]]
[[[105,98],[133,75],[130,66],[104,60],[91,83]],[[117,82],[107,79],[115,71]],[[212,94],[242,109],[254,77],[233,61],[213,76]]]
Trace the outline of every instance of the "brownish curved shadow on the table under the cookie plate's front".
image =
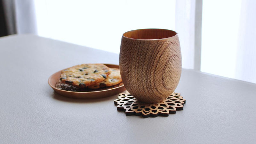
[[118,94],[110,96],[110,97],[98,98],[98,99],[72,99],[72,98],[62,96],[62,95],[58,94],[57,92],[52,93],[52,98],[55,100],[74,102],[74,103],[93,103],[93,102],[100,102],[100,101],[105,101],[105,100],[113,100],[114,101],[115,99],[117,99],[117,96],[118,96]]

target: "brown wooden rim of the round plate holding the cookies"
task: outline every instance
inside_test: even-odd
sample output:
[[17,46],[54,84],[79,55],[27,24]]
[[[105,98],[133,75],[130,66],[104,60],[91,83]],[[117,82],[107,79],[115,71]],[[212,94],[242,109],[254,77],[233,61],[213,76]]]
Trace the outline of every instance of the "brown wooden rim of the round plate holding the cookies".
[[[109,68],[119,68],[119,65],[114,65],[114,64],[104,64],[104,65],[108,66]],[[94,91],[94,92],[70,92],[70,91],[60,90],[55,87],[55,84],[57,83],[57,81],[60,80],[60,74],[61,74],[61,70],[54,73],[52,76],[50,76],[48,79],[48,84],[52,87],[52,89],[55,92],[65,97],[75,98],[75,99],[96,99],[96,98],[109,97],[125,91],[124,85],[118,86],[116,88],[108,89],[108,90]]]

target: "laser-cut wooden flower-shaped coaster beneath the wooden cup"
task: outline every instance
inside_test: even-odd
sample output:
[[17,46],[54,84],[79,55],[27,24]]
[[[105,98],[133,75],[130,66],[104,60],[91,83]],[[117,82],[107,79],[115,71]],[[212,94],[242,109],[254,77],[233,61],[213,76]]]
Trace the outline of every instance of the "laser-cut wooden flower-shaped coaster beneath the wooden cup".
[[115,101],[117,110],[123,110],[126,116],[156,117],[169,116],[175,114],[176,110],[183,110],[186,100],[180,96],[180,93],[172,93],[169,97],[161,102],[148,104],[139,102],[130,93],[120,93]]

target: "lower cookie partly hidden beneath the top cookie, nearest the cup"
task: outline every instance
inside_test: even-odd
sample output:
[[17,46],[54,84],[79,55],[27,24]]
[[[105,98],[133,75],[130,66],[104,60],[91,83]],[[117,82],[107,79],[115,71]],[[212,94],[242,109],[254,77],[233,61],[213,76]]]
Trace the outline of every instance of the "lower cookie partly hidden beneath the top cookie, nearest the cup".
[[113,86],[122,82],[120,70],[118,68],[110,68],[111,74],[102,82],[88,86],[89,89],[98,89],[107,86]]

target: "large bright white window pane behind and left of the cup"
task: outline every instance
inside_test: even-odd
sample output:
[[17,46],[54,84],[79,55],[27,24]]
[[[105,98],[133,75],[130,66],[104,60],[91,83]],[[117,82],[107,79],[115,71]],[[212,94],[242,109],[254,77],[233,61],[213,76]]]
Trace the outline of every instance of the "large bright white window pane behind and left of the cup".
[[35,0],[38,35],[119,53],[122,34],[175,29],[175,0]]

